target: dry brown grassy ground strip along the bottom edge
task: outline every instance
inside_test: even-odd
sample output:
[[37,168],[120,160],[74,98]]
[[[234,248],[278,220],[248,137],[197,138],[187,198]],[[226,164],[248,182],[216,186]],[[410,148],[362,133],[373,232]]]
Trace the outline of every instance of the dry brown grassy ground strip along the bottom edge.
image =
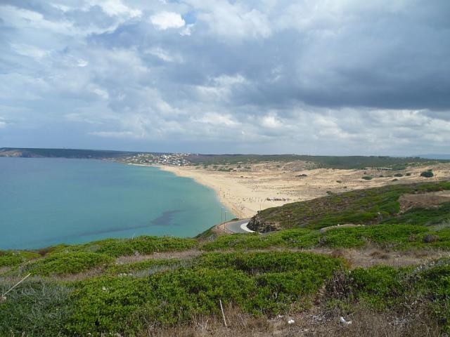
[[[360,305],[355,305],[352,313],[316,305],[305,312],[264,319],[229,305],[224,308],[227,326],[220,315],[193,317],[192,324],[172,329],[150,327],[141,337],[439,336],[439,326],[430,319],[426,308],[416,307],[413,312],[399,316],[395,312],[375,312]],[[352,324],[342,324],[341,316]]]

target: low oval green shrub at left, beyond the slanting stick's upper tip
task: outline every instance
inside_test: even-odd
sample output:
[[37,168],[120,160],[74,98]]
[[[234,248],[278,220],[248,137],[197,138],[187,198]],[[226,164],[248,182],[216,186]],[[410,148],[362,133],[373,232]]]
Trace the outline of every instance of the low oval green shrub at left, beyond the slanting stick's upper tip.
[[86,253],[83,251],[53,253],[46,258],[32,263],[29,268],[34,275],[77,274],[94,267],[111,263],[113,258],[105,254]]

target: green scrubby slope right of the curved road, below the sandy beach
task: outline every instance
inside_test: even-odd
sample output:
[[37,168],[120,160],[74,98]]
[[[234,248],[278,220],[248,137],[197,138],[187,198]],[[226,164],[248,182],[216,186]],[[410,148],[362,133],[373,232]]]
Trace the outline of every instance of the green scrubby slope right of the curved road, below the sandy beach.
[[377,223],[378,212],[382,214],[383,222],[432,225],[433,222],[448,218],[449,204],[443,204],[435,211],[411,210],[397,219],[400,210],[398,200],[405,193],[439,190],[450,190],[450,182],[390,185],[333,194],[264,209],[250,221],[250,227],[255,220],[261,223],[278,223],[281,228],[322,228],[345,223],[373,224]]

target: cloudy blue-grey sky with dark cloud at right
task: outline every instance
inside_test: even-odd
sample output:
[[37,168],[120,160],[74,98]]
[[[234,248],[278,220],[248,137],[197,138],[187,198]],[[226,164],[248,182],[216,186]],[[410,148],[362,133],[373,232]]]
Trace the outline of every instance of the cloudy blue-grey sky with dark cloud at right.
[[450,153],[448,0],[0,0],[0,147]]

